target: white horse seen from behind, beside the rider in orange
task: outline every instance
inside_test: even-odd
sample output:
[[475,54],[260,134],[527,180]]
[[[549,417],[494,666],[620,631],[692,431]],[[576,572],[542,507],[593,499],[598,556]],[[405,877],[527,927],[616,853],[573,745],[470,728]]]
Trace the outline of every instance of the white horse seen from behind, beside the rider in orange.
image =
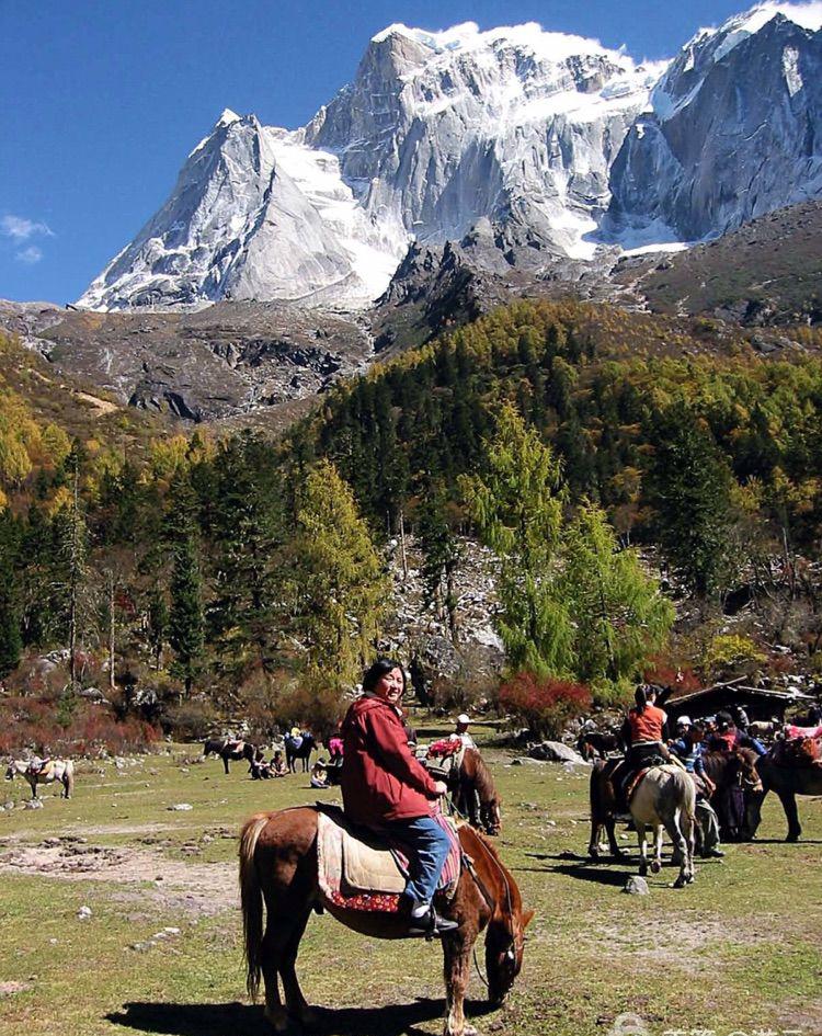
[[652,766],[631,796],[630,812],[639,838],[639,873],[643,876],[648,874],[646,831],[651,828],[654,836],[651,872],[659,874],[664,829],[674,844],[674,858],[680,862],[674,888],[682,888],[693,881],[696,787],[690,775],[681,766],[669,763]]

